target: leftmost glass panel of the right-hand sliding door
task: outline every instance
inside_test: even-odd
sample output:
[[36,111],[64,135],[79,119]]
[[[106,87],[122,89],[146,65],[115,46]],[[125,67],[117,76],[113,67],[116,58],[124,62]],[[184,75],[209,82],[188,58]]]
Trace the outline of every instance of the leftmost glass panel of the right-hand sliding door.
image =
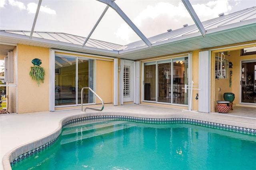
[[144,100],[156,101],[156,63],[144,64]]

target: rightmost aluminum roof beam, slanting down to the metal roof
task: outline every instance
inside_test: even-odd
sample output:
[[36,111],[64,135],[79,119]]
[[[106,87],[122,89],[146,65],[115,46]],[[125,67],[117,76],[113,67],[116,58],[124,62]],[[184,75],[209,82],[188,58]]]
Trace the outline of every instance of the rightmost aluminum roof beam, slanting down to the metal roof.
[[189,0],[181,0],[181,1],[183,2],[185,7],[187,8],[188,13],[190,14],[192,19],[194,20],[194,22],[195,22],[197,28],[199,29],[199,31],[201,32],[202,36],[205,37],[206,30],[204,29],[204,26],[203,26],[202,22],[199,20],[196,12],[194,11],[192,5],[189,2]]

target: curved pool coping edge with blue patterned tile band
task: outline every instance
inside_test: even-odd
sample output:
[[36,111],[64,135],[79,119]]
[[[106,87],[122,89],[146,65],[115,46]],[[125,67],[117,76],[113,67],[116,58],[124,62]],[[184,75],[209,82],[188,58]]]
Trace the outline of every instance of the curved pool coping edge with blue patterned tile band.
[[12,150],[8,151],[3,156],[3,167],[4,169],[12,169],[11,163],[13,161],[20,161],[28,156],[40,152],[44,148],[47,148],[51,144],[53,144],[59,137],[62,127],[65,125],[83,121],[83,120],[90,120],[90,119],[98,119],[98,118],[113,118],[113,119],[130,119],[131,121],[143,121],[143,122],[165,122],[165,121],[190,121],[195,123],[200,123],[204,125],[212,125],[216,127],[223,127],[223,128],[230,128],[233,130],[240,130],[244,132],[250,132],[256,134],[256,125],[247,122],[240,122],[234,120],[226,120],[222,119],[221,117],[214,118],[214,117],[206,117],[202,115],[192,115],[188,113],[182,114],[143,114],[143,115],[136,115],[134,113],[124,113],[124,112],[93,112],[93,113],[80,113],[78,115],[72,115],[68,117],[64,117],[58,123],[58,128],[54,130],[52,133],[43,136],[37,140],[33,140],[21,146],[17,146]]

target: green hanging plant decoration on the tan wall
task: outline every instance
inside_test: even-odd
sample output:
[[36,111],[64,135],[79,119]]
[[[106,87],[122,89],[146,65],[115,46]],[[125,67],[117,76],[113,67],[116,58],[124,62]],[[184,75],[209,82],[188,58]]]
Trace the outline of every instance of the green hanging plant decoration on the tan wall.
[[34,67],[31,67],[29,75],[32,77],[33,80],[37,81],[38,86],[40,85],[40,82],[44,83],[44,68],[40,66],[42,64],[41,60],[38,58],[35,58],[31,61],[34,65]]

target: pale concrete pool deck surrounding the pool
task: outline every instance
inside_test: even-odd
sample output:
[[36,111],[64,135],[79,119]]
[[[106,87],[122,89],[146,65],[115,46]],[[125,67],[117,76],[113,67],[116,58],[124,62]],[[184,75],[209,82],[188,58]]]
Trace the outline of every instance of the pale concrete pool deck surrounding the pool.
[[94,115],[123,115],[156,119],[188,118],[256,129],[256,108],[250,107],[234,107],[234,111],[230,111],[229,113],[196,113],[182,111],[180,109],[131,104],[105,107],[101,112],[87,110],[86,113],[81,113],[80,109],[78,109],[56,112],[5,114],[0,115],[0,170],[10,169],[8,155],[14,150],[25,144],[28,145],[33,141],[46,138],[46,136],[49,136],[54,131],[60,130],[61,122],[66,117],[72,117],[74,119],[76,117]]

